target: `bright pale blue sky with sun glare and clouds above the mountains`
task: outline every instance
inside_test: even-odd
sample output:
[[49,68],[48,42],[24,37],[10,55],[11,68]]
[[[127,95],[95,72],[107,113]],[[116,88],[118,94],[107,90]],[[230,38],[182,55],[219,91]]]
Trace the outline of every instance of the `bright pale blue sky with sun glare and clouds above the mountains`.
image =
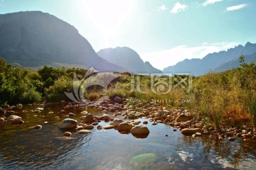
[[256,42],[255,0],[0,0],[0,14],[50,13],[97,52],[130,47],[157,69]]

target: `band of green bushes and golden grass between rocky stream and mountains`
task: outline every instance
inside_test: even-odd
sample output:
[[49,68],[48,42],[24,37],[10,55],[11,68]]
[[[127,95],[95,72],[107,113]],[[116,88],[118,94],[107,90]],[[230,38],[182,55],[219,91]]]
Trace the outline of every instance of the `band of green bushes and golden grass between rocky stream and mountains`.
[[[102,95],[132,98],[141,102],[156,102],[168,108],[181,106],[194,117],[203,117],[204,123],[213,123],[216,128],[222,125],[256,125],[256,67],[255,63],[245,63],[240,57],[240,68],[222,73],[209,72],[202,77],[193,77],[193,89],[188,90],[189,76],[171,77],[171,90],[166,92],[169,77],[121,75],[108,84],[107,89],[98,85],[83,87],[81,81],[87,70],[43,67],[37,72],[14,68],[0,60],[0,105],[33,103],[39,101],[68,101],[64,91],[80,89],[82,97],[95,101]],[[73,82],[74,75],[78,79]],[[105,78],[94,77],[92,81]],[[103,76],[104,77],[104,76]],[[110,77],[109,77],[110,78]],[[191,77],[190,77],[191,78]],[[186,82],[182,81],[186,80]],[[153,85],[152,85],[153,84]],[[187,85],[187,86],[186,86]],[[74,87],[75,86],[75,87]]]

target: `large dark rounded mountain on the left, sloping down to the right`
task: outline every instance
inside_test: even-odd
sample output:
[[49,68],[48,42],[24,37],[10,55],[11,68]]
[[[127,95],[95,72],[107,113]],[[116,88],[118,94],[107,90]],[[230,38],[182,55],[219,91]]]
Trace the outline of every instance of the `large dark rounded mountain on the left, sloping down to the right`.
[[41,11],[0,15],[0,57],[23,67],[58,63],[93,66],[107,72],[126,71],[99,57],[69,23]]

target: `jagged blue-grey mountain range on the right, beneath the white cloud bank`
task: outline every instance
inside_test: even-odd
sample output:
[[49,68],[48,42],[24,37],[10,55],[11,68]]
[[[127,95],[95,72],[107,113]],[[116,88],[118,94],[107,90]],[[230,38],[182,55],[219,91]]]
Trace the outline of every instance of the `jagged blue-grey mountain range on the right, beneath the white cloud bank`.
[[206,74],[209,70],[220,67],[221,64],[230,62],[231,60],[237,60],[240,55],[251,55],[254,52],[256,52],[256,44],[247,42],[245,46],[238,45],[227,51],[210,53],[206,55],[206,57],[203,57],[203,59],[183,60],[174,66],[166,67],[163,72],[173,74],[191,73],[194,76],[201,76]]

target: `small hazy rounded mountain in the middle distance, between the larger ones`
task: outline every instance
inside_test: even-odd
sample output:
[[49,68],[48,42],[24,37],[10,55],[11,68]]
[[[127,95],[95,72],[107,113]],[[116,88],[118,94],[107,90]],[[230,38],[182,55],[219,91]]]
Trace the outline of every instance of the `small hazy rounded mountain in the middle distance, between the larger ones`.
[[97,52],[103,59],[133,73],[162,73],[149,62],[143,62],[137,52],[129,47],[105,48]]

